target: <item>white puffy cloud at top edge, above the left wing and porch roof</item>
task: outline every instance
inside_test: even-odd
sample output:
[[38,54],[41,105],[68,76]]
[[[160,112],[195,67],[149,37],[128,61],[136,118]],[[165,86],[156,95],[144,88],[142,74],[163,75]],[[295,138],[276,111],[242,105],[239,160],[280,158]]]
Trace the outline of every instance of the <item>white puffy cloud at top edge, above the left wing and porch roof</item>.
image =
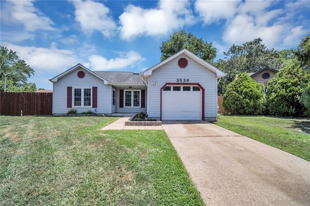
[[94,1],[72,1],[75,6],[76,20],[86,33],[94,30],[100,31],[105,37],[113,35],[116,24],[112,17],[109,17],[109,8],[104,4]]

